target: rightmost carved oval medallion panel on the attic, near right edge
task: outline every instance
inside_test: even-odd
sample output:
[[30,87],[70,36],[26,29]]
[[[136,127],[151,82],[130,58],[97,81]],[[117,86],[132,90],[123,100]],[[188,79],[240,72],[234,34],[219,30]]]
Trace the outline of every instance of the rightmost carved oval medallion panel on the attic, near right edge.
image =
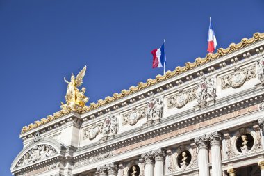
[[249,81],[256,77],[256,66],[245,67],[239,69],[239,67],[234,67],[233,73],[221,77],[221,87],[222,90],[226,88],[239,88],[245,81]]

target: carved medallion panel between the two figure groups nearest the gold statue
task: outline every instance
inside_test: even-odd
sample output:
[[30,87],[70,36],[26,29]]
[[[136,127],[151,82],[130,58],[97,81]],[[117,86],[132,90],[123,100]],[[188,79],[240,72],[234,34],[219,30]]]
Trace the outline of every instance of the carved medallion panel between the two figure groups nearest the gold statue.
[[122,125],[135,125],[138,120],[143,119],[147,116],[147,106],[137,109],[133,107],[132,111],[123,115]]

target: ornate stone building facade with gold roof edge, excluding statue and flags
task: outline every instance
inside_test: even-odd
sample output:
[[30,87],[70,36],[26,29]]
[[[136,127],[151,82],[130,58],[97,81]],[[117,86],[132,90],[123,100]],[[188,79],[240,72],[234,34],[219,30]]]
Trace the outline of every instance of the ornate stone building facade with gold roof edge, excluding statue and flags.
[[[11,172],[264,176],[264,33],[23,127]],[[64,106],[64,105],[63,105]]]

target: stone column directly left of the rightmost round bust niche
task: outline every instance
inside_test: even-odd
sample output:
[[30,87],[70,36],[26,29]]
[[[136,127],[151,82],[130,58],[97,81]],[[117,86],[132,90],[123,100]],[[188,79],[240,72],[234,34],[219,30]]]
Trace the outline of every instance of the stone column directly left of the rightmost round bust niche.
[[222,176],[222,159],[221,159],[221,134],[217,131],[210,136],[212,173],[213,176]]

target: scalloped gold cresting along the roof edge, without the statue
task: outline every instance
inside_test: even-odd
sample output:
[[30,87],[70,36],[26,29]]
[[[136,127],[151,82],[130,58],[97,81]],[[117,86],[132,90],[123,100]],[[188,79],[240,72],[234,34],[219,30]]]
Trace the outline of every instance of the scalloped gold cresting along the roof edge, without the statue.
[[[209,61],[213,61],[217,58],[221,58],[222,56],[225,56],[227,54],[231,54],[234,51],[237,51],[238,49],[242,49],[244,47],[247,47],[248,45],[252,45],[255,42],[258,42],[260,40],[264,39],[264,33],[254,33],[252,38],[243,38],[241,42],[238,44],[231,43],[228,48],[223,49],[217,49],[217,52],[215,54],[207,54],[205,58],[196,58],[195,62],[193,63],[185,63],[185,66],[183,67],[176,67],[174,71],[167,71],[164,75],[157,75],[156,79],[147,79],[146,83],[138,83],[138,86],[131,86],[129,90],[122,90],[121,93],[114,93],[112,97],[108,96],[104,100],[99,99],[97,103],[90,103],[90,106],[84,106],[82,111],[76,111],[78,113],[87,113],[94,109],[98,109],[101,106],[105,106],[106,104],[110,104],[112,102],[115,102],[117,99],[122,99],[128,95],[132,95],[133,93],[138,93],[140,90],[144,90],[145,88],[149,88],[150,86],[154,86],[157,83],[160,83],[162,81],[165,81],[167,79],[170,79],[172,77],[176,77],[179,74],[182,74],[184,72],[187,72],[189,70],[194,69],[195,67],[198,67],[199,65],[204,65],[208,63]],[[47,118],[42,118],[40,121],[37,120],[34,123],[31,123],[28,126],[25,126],[22,128],[22,134],[26,133],[27,131],[31,131],[32,129],[35,129],[37,127],[40,127],[44,124],[47,124],[53,120],[56,120],[58,118],[63,117],[64,115],[67,115],[69,113],[72,113],[73,111],[63,111],[60,110],[56,113],[53,113],[53,115],[48,115]]]

